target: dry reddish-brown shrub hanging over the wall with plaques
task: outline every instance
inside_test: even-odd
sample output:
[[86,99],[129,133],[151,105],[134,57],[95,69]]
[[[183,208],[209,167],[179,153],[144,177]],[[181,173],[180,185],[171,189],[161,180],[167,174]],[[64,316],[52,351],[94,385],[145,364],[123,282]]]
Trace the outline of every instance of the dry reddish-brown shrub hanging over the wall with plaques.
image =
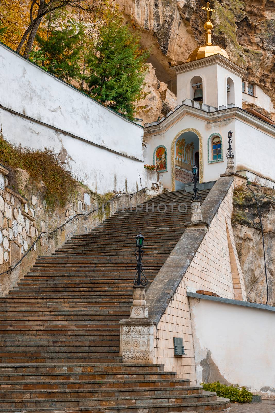
[[[61,162],[54,150],[25,149],[21,151],[7,142],[0,134],[0,162],[9,169],[9,183],[12,189],[20,191],[20,176],[17,168],[25,169],[35,183],[44,182],[47,187],[46,201],[49,207],[64,206],[75,190],[76,180]],[[23,195],[23,194],[21,194]]]

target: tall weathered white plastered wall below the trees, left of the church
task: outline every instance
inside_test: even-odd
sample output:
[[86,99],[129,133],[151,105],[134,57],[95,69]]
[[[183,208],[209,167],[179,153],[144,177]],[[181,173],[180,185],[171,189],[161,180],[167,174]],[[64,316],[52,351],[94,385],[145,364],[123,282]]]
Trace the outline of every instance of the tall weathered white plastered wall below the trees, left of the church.
[[145,186],[143,162],[135,160],[143,160],[142,127],[2,44],[0,91],[3,107],[36,120],[0,109],[3,135],[10,142],[34,149],[53,148],[77,180],[99,193],[126,189],[134,192]]

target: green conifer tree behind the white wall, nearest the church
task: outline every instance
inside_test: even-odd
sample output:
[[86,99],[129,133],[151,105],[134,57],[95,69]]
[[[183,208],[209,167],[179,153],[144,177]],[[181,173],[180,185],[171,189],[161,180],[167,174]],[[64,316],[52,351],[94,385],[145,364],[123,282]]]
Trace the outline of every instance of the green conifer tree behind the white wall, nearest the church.
[[102,29],[95,49],[87,64],[89,95],[133,119],[134,102],[143,99],[148,52],[121,16]]

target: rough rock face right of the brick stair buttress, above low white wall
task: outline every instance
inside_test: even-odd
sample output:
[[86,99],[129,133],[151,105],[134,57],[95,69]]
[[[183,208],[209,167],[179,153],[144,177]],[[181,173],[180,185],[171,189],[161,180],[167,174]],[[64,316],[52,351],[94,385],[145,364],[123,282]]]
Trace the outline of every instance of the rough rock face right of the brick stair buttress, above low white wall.
[[[268,304],[275,305],[275,191],[255,188],[264,232],[268,278]],[[266,304],[266,276],[259,214],[254,195],[246,187],[234,191],[232,225],[245,278],[247,299]]]

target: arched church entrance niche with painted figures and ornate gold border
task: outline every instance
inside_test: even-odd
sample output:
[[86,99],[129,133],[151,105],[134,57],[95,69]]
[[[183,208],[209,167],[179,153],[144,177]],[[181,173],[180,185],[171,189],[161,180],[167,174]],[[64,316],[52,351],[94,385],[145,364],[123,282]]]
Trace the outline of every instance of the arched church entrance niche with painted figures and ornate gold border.
[[191,182],[191,168],[197,163],[199,182],[203,182],[203,139],[196,129],[187,128],[177,133],[172,141],[171,154],[172,191]]

